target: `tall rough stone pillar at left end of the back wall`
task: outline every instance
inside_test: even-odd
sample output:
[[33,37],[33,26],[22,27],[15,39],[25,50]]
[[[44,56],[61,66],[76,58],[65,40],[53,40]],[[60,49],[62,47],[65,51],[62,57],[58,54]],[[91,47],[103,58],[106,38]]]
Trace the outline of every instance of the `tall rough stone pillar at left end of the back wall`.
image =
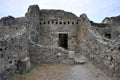
[[38,43],[38,35],[39,35],[39,22],[40,22],[40,9],[38,5],[31,5],[28,8],[27,13],[25,14],[26,18],[29,22],[29,36],[30,39]]

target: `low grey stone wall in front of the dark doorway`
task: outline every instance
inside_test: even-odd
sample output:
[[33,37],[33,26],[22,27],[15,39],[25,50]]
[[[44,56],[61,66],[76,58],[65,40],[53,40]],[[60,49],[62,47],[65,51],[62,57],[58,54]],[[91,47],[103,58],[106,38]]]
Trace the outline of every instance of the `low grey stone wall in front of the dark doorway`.
[[65,63],[68,59],[68,51],[60,47],[31,43],[29,45],[29,56],[31,62],[36,64]]

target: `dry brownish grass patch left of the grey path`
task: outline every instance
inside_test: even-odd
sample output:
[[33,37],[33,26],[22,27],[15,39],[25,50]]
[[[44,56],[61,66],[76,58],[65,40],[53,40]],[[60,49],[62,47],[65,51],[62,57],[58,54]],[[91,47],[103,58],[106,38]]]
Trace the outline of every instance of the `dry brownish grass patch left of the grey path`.
[[44,64],[33,65],[25,74],[15,74],[8,80],[61,80],[68,71],[68,65]]

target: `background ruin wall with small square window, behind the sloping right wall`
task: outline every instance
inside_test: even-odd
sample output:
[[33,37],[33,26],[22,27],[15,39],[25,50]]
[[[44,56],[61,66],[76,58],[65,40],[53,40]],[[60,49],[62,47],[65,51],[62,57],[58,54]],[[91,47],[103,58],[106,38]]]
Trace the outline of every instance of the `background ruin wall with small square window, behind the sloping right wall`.
[[108,23],[94,23],[94,22],[90,22],[91,25],[93,26],[94,29],[97,30],[97,32],[104,38],[108,38],[108,39],[115,39],[118,38],[118,36],[120,35],[120,31],[116,30],[116,28]]

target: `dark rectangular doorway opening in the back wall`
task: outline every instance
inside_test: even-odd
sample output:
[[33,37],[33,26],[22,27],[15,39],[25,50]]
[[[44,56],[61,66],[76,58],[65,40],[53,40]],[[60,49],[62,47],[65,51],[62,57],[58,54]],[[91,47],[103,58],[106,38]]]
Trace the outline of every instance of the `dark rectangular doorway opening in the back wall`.
[[59,34],[59,46],[68,49],[68,34]]

